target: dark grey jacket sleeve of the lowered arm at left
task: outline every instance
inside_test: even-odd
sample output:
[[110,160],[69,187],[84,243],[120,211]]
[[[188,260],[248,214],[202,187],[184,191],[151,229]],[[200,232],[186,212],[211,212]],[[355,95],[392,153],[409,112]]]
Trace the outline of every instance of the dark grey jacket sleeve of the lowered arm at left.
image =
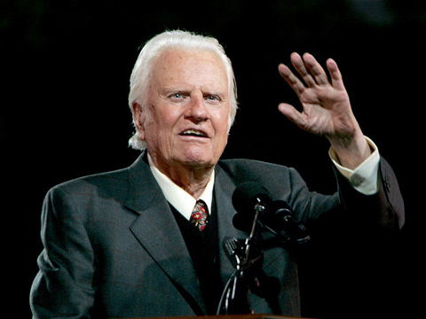
[[43,202],[43,252],[30,292],[34,318],[88,318],[94,302],[94,254],[85,228],[82,203],[60,187]]

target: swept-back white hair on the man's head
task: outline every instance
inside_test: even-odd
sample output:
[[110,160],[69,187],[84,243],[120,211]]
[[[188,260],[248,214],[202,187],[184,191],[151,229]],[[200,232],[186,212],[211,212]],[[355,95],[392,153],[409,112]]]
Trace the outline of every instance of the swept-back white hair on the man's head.
[[[130,75],[129,106],[136,102],[146,108],[147,90],[149,87],[149,74],[152,72],[155,58],[158,58],[167,49],[182,49],[187,51],[212,51],[217,54],[225,66],[228,78],[229,91],[229,116],[228,129],[233,125],[237,113],[237,86],[233,74],[231,60],[226,56],[224,47],[217,39],[211,36],[196,35],[187,31],[165,31],[155,35],[139,52],[133,71]],[[149,114],[148,114],[149,115]],[[135,121],[133,120],[133,124]],[[136,126],[135,126],[136,128]],[[130,137],[129,145],[136,150],[145,150],[146,142],[142,141],[136,133]]]

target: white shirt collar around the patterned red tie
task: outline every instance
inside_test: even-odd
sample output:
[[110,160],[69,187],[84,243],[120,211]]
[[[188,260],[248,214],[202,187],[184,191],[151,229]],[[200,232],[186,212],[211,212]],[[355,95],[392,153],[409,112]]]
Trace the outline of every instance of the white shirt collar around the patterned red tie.
[[211,212],[211,202],[213,199],[213,187],[215,184],[215,170],[213,169],[209,183],[202,192],[200,198],[193,198],[188,192],[181,189],[177,184],[173,183],[167,175],[162,174],[157,167],[154,167],[153,159],[148,153],[148,163],[155,180],[160,185],[162,193],[167,201],[177,209],[177,212],[182,214],[188,221],[193,213],[193,206],[197,199],[202,199]]

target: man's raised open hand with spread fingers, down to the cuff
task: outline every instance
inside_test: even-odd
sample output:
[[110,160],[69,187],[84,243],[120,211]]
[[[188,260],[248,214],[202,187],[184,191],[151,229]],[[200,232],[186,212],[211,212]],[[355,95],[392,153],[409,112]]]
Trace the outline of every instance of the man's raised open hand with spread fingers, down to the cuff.
[[302,58],[299,54],[292,53],[290,59],[304,82],[288,66],[280,64],[279,71],[295,90],[303,111],[298,112],[294,106],[281,103],[280,112],[298,127],[326,136],[343,166],[357,167],[367,159],[370,149],[352,113],[337,64],[333,59],[327,59],[329,81],[325,70],[311,54],[305,53]]

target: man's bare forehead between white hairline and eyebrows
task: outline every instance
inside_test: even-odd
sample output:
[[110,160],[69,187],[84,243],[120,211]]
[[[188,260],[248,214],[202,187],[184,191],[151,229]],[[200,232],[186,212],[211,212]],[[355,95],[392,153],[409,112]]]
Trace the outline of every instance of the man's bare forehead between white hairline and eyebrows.
[[153,76],[160,86],[227,90],[228,84],[225,66],[212,51],[163,51],[154,63]]

